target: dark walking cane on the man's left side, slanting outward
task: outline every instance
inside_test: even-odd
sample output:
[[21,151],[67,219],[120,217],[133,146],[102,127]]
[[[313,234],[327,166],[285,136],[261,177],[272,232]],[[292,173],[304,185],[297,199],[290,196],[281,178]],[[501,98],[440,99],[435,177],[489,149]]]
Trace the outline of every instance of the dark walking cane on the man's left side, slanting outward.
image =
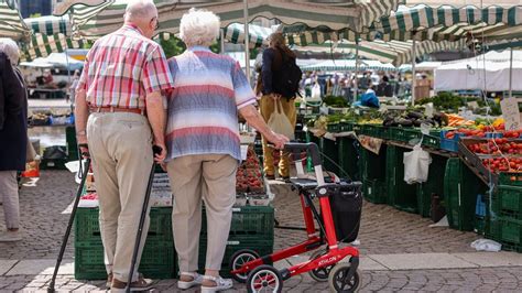
[[[78,149],[79,148],[88,148],[88,146],[87,146],[87,144],[78,144]],[[54,267],[53,278],[51,279],[51,282],[48,284],[47,292],[50,292],[50,293],[53,293],[55,291],[54,290],[54,283],[56,281],[56,276],[58,274],[59,265],[62,264],[62,259],[64,257],[65,248],[67,247],[67,241],[68,241],[69,235],[70,235],[70,229],[73,228],[74,218],[76,216],[76,210],[78,209],[79,198],[81,197],[81,192],[84,191],[85,181],[87,178],[87,173],[89,172],[89,167],[90,167],[89,153],[88,152],[85,152],[85,153],[78,152],[78,153],[80,153],[79,170],[80,170],[80,173],[81,173],[81,182],[79,183],[78,189],[76,192],[76,198],[75,198],[74,204],[73,204],[73,211],[70,211],[69,224],[67,225],[67,229],[65,230],[64,240],[62,241],[62,247],[59,248],[58,259],[56,260],[56,265]],[[81,161],[83,161],[81,158],[83,156],[87,158],[85,160],[85,165],[84,166],[81,166]]]

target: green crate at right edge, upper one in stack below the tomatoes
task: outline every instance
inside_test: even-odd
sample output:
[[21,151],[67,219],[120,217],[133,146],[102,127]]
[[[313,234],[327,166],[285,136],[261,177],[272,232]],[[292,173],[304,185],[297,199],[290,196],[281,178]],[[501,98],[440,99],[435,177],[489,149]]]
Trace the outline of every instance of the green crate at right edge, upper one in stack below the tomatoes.
[[497,216],[522,220],[522,186],[497,186],[491,208]]

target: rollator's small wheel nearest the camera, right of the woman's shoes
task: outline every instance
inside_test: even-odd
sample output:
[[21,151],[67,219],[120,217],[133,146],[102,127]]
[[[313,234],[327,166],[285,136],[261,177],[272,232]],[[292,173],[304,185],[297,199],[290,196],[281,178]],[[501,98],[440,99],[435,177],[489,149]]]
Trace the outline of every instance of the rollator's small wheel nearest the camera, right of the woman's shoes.
[[274,267],[267,264],[259,265],[248,275],[247,290],[250,293],[280,293],[283,290],[283,278]]

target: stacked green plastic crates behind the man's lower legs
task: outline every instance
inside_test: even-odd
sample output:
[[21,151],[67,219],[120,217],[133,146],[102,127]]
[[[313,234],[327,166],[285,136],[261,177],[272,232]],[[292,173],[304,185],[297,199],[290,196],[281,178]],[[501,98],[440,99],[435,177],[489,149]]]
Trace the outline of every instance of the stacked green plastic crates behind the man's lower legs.
[[[75,217],[75,279],[104,280],[104,246],[98,221],[98,208],[78,208]],[[172,208],[153,207],[151,224],[141,257],[139,272],[151,279],[172,279],[176,257],[172,237]],[[133,246],[132,243],[129,243]]]

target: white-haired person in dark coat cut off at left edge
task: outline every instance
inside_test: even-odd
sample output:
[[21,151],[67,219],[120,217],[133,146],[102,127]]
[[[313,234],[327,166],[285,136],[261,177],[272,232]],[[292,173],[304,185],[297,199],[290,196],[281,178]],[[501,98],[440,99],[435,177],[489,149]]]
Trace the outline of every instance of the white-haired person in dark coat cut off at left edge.
[[17,43],[0,39],[0,199],[7,226],[0,242],[22,239],[17,171],[25,170],[28,97],[23,77],[14,67],[19,57]]

